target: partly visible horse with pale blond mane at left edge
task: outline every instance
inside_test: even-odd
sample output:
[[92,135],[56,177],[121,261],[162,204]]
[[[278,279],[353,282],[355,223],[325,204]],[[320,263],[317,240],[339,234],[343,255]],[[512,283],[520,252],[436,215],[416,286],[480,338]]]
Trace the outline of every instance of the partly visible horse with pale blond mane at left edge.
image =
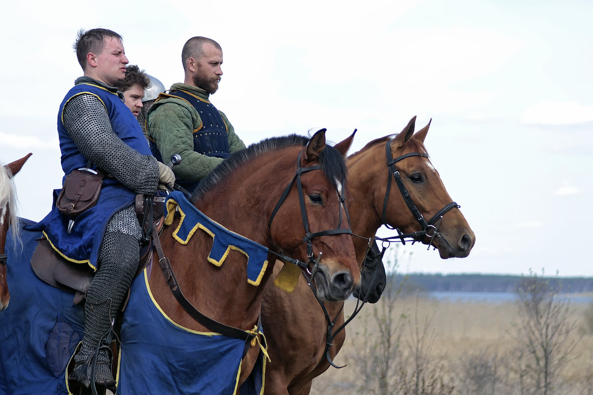
[[[6,278],[7,256],[4,251],[4,243],[10,225],[17,219],[16,195],[11,178],[20,171],[29,156],[31,156],[31,153],[24,156],[24,158],[8,163],[8,165],[0,166],[0,311],[8,307],[10,300]],[[13,236],[17,238],[18,226],[13,226],[10,229]]]

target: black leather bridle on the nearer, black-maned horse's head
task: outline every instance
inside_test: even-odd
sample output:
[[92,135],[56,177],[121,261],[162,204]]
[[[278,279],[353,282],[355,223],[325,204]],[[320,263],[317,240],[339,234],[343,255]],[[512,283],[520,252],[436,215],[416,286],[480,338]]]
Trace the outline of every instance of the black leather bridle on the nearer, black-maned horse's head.
[[[308,275],[313,275],[315,272],[315,269],[317,268],[317,265],[319,264],[320,261],[320,256],[318,256],[317,259],[315,259],[314,253],[313,253],[313,239],[315,239],[316,237],[321,237],[321,236],[329,236],[329,235],[342,235],[342,234],[347,234],[347,235],[352,235],[352,230],[350,229],[350,216],[348,214],[348,208],[346,207],[346,203],[345,203],[345,198],[344,198],[344,194],[343,194],[343,188],[342,191],[338,191],[338,195],[339,195],[339,199],[340,199],[340,219],[339,222],[337,224],[336,229],[329,229],[329,230],[321,230],[320,232],[314,232],[311,233],[310,229],[309,229],[309,220],[307,218],[307,209],[305,208],[305,195],[302,191],[302,184],[301,184],[301,175],[310,172],[310,171],[314,171],[314,170],[322,170],[323,168],[321,167],[321,165],[315,165],[315,166],[310,166],[307,168],[302,168],[301,167],[301,155],[302,155],[302,151],[299,152],[298,158],[297,158],[297,172],[295,174],[295,176],[291,179],[291,181],[288,183],[288,185],[286,186],[282,196],[280,197],[280,200],[278,201],[278,203],[276,204],[276,207],[274,208],[274,210],[272,211],[272,215],[270,216],[270,220],[268,221],[268,227],[272,227],[272,221],[274,220],[274,217],[276,216],[276,213],[278,213],[278,210],[280,209],[280,206],[284,203],[284,201],[286,200],[286,197],[288,196],[289,192],[292,189],[292,184],[294,184],[295,180],[297,181],[297,190],[298,190],[298,200],[299,200],[299,204],[301,206],[301,217],[302,217],[302,225],[305,228],[305,237],[302,240],[304,243],[307,243],[307,263],[301,262],[298,259],[293,259],[293,258],[289,258],[288,256],[283,256],[283,255],[279,255],[278,253],[275,253],[276,255],[280,256],[280,258],[286,259],[286,261],[289,261],[293,264],[296,264],[298,266],[300,266],[303,269],[306,269],[308,271]],[[344,186],[344,179],[342,179],[342,186]],[[348,223],[348,227],[347,228],[342,228],[342,210],[341,208],[344,208],[345,212],[346,212],[346,220]],[[319,253],[321,255],[321,252]],[[308,269],[308,264],[313,264],[313,269],[311,269],[311,271],[309,271]]]

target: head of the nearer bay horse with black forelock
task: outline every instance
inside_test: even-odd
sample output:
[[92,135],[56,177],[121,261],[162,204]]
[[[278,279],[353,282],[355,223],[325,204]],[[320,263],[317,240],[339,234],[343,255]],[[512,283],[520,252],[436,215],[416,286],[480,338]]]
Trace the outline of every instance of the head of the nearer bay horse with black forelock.
[[276,205],[283,218],[272,215],[270,234],[286,255],[308,262],[320,300],[343,300],[360,282],[345,207],[351,197],[344,156],[353,134],[331,147],[325,131],[315,133],[299,150],[296,175],[285,190],[288,195]]

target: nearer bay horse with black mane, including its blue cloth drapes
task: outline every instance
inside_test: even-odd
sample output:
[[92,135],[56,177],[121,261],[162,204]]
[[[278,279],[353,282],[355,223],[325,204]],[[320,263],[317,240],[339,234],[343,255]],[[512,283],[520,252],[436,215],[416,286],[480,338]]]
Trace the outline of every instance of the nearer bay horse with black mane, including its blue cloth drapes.
[[[248,376],[265,364],[258,324],[278,256],[308,272],[323,300],[344,300],[358,288],[344,204],[351,199],[344,160],[351,141],[326,145],[325,130],[310,139],[263,140],[225,160],[191,201],[171,192],[168,226],[155,241],[159,259],[133,281],[123,312],[118,395],[232,393],[244,381],[262,384],[261,374]],[[13,300],[0,319],[0,388],[70,393],[67,365],[84,310],[72,294],[35,277],[28,263],[42,233],[32,221],[21,223],[23,251],[7,243]],[[219,359],[228,363],[221,367]],[[219,374],[224,380],[211,377]]]

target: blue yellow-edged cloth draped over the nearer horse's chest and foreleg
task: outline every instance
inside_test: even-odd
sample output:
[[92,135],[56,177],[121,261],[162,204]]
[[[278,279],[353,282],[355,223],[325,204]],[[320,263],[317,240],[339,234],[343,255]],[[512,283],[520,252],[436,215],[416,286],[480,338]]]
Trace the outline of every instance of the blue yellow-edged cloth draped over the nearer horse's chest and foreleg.
[[[235,393],[244,341],[171,322],[152,298],[146,269],[132,284],[120,338],[117,395]],[[261,354],[241,395],[263,393]]]

